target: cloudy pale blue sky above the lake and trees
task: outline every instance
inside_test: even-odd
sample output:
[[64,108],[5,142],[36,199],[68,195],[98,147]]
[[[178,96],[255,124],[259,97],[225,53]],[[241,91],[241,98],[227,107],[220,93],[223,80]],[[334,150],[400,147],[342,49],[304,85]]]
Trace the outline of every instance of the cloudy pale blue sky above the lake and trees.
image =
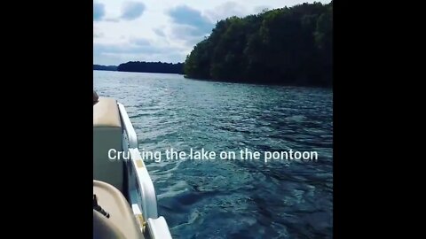
[[94,0],[93,64],[184,62],[220,19],[244,17],[303,0]]

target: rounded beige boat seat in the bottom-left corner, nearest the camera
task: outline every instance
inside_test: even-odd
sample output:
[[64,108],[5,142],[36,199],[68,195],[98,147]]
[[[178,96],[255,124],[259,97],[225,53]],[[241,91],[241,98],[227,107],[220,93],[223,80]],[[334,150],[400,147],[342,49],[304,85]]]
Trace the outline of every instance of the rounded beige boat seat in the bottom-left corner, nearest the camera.
[[93,181],[93,194],[99,206],[109,213],[106,218],[93,210],[93,238],[143,239],[136,216],[122,193],[104,181]]

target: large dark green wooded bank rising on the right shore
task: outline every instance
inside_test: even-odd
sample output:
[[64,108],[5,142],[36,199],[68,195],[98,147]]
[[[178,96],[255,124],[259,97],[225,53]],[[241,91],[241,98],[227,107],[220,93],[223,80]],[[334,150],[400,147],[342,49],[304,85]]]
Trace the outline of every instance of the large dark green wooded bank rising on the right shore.
[[186,57],[185,77],[331,87],[333,2],[217,22]]

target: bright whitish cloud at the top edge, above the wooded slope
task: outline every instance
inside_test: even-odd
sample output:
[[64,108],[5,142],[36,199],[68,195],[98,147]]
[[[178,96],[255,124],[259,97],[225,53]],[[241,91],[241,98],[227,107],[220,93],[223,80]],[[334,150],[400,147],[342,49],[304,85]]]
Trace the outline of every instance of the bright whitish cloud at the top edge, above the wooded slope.
[[206,15],[214,22],[233,16],[244,17],[248,14],[249,12],[247,9],[243,5],[236,2],[225,2],[224,4],[218,5],[214,9],[206,11]]

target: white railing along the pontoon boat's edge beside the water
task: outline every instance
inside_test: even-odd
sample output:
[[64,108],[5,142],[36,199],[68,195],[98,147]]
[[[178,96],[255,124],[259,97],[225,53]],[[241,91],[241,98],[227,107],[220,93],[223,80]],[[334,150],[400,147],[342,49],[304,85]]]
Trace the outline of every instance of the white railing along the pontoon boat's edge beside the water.
[[[163,217],[158,217],[154,183],[138,150],[136,131],[124,106],[118,103],[118,107],[123,126],[122,149],[130,153],[130,160],[127,160],[125,165],[128,170],[128,190],[132,210],[135,216],[143,218],[143,222],[139,223],[146,225],[146,232],[151,238],[171,239],[166,220]],[[141,225],[141,229],[144,231],[143,225]]]

